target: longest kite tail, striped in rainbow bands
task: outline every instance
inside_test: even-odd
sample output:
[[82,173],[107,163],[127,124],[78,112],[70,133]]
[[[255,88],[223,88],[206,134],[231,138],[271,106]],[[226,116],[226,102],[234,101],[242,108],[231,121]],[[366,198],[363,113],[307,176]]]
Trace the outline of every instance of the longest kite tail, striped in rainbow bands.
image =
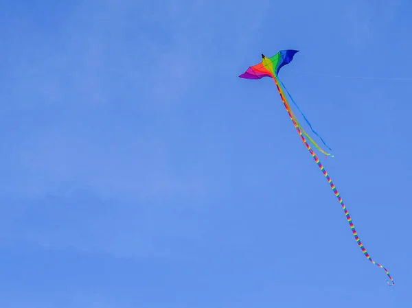
[[391,275],[389,274],[388,270],[386,268],[384,268],[382,265],[380,265],[379,263],[376,263],[374,260],[371,259],[371,257],[369,256],[369,254],[367,253],[365,247],[363,246],[361,239],[359,239],[358,237],[358,233],[355,230],[355,226],[352,222],[352,218],[349,215],[349,212],[346,209],[345,204],[343,203],[343,200],[341,198],[341,196],[339,196],[339,192],[337,191],[336,187],[334,186],[332,180],[330,179],[328,172],[326,172],[325,168],[323,168],[323,165],[321,164],[321,162],[319,161],[319,158],[317,158],[316,154],[314,154],[313,150],[310,148],[310,145],[308,145],[308,142],[306,141],[305,137],[302,135],[301,130],[299,129],[299,125],[298,123],[295,121],[293,113],[290,110],[290,107],[288,105],[288,102],[286,101],[286,98],[284,97],[284,93],[282,91],[282,89],[280,88],[278,82],[277,82],[277,78],[273,78],[273,80],[275,81],[276,87],[277,87],[277,91],[279,92],[279,95],[282,99],[282,102],[284,103],[285,107],[286,107],[286,111],[288,112],[288,115],[290,117],[290,119],[293,122],[293,125],[295,126],[297,132],[299,133],[299,136],[301,137],[302,142],[304,143],[304,145],[306,146],[306,148],[308,149],[308,151],[310,152],[310,154],[312,155],[312,157],[314,158],[314,161],[317,163],[319,169],[321,169],[323,175],[325,176],[325,178],[328,180],[330,187],[332,188],[332,191],[334,192],[335,196],[338,198],[339,203],[342,206],[343,211],[345,212],[346,215],[346,219],[347,222],[350,225],[350,228],[352,230],[352,234],[354,235],[355,239],[356,239],[356,243],[358,244],[359,248],[361,248],[363,254],[365,254],[365,257],[367,257],[367,259],[369,261],[371,261],[371,263],[374,263],[375,265],[377,265],[378,267],[382,268],[383,270],[385,270],[387,276],[389,277],[389,279],[391,281],[387,281],[388,285],[394,285],[395,282],[393,281]]

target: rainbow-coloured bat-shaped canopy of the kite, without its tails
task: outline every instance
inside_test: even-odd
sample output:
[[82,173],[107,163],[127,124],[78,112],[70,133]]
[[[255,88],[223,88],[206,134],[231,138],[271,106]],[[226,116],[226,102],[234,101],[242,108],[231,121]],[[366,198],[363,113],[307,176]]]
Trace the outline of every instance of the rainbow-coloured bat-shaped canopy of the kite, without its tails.
[[275,78],[279,73],[280,68],[290,63],[297,52],[299,52],[299,50],[281,50],[271,58],[266,58],[266,56],[262,54],[262,62],[253,65],[253,67],[249,67],[249,69],[239,77],[245,79],[260,79],[264,77]]

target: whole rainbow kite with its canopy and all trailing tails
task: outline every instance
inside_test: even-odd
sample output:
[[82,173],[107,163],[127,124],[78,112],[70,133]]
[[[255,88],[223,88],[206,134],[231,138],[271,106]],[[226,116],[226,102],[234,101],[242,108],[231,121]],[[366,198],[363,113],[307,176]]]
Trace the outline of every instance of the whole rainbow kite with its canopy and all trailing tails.
[[[385,270],[387,276],[390,279],[390,281],[387,281],[387,284],[388,285],[394,285],[395,283],[394,283],[391,275],[389,274],[388,270],[386,268],[384,268],[382,265],[380,265],[379,263],[376,263],[374,260],[372,260],[371,257],[369,256],[369,253],[367,252],[367,250],[363,246],[363,244],[361,242],[361,239],[359,239],[358,233],[355,230],[355,226],[352,222],[352,218],[350,217],[349,212],[347,211],[346,206],[343,203],[343,200],[342,200],[341,196],[339,195],[338,190],[336,189],[334,183],[330,179],[330,176],[329,176],[328,172],[325,170],[325,168],[323,167],[323,165],[319,161],[319,158],[317,157],[317,154],[315,154],[314,150],[312,150],[312,147],[309,145],[308,141],[310,143],[312,143],[312,145],[314,147],[316,147],[317,150],[319,150],[319,152],[325,154],[326,157],[328,157],[328,156],[333,157],[333,156],[330,153],[327,153],[324,150],[322,150],[321,147],[319,147],[319,145],[317,145],[317,143],[315,143],[314,140],[309,137],[309,135],[304,131],[304,129],[301,128],[301,125],[297,121],[297,119],[296,119],[295,115],[293,114],[293,112],[292,112],[292,110],[289,106],[289,103],[286,99],[286,96],[284,94],[284,90],[286,91],[286,93],[288,93],[288,96],[290,97],[290,100],[293,102],[293,104],[295,104],[295,106],[297,107],[299,112],[301,112],[301,110],[299,109],[299,107],[297,106],[295,101],[293,100],[292,96],[290,95],[290,93],[287,91],[284,84],[279,80],[279,78],[277,76],[279,74],[279,70],[282,67],[284,67],[284,65],[289,64],[293,60],[293,56],[295,56],[295,54],[297,52],[299,52],[299,51],[298,50],[292,50],[292,49],[281,50],[277,54],[275,54],[275,56],[273,56],[271,58],[266,58],[266,56],[264,56],[262,54],[262,62],[260,62],[259,64],[255,64],[252,67],[249,67],[249,69],[247,69],[247,71],[242,73],[242,75],[240,75],[239,77],[244,78],[244,79],[251,79],[251,80],[258,80],[258,79],[261,79],[261,78],[264,78],[264,77],[269,77],[269,78],[273,79],[273,81],[275,82],[277,91],[279,92],[280,98],[282,99],[282,102],[283,102],[283,104],[286,108],[286,111],[288,112],[290,120],[292,120],[293,125],[295,126],[301,141],[304,143],[304,145],[306,146],[306,148],[308,149],[308,151],[312,155],[312,158],[314,158],[314,161],[317,163],[319,169],[321,169],[323,175],[328,180],[330,188],[332,188],[332,191],[334,192],[336,198],[338,198],[339,203],[341,204],[342,209],[345,212],[346,220],[350,225],[350,228],[352,230],[352,234],[354,235],[354,237],[356,239],[356,243],[358,244],[359,248],[361,248],[363,254],[365,254],[365,257],[367,257],[367,259],[369,261],[371,261],[371,263],[373,263],[373,264],[377,265],[379,268],[382,268],[383,270]],[[280,84],[282,84],[284,90],[280,86]],[[301,112],[301,115],[304,117],[306,123],[308,123],[308,126],[310,126],[310,129],[312,130],[312,132],[314,132],[314,134],[316,134],[319,137],[319,139],[321,139],[319,134],[317,134],[317,132],[315,132],[313,130],[312,125],[310,124],[308,119],[305,117],[303,112]],[[308,139],[308,141],[306,139]],[[325,145],[325,147],[328,147],[328,145],[326,145],[326,143],[323,141],[323,139],[321,139],[321,141],[323,142],[323,145]],[[330,150],[330,147],[328,147],[328,149]]]

